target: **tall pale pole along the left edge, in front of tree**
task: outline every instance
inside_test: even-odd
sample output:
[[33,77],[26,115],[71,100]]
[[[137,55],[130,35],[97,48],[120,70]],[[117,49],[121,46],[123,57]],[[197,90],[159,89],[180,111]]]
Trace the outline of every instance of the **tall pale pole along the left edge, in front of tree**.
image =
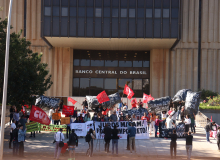
[[10,0],[9,11],[8,11],[8,24],[7,24],[6,50],[5,50],[4,86],[3,86],[3,97],[2,97],[2,117],[1,117],[1,134],[0,134],[0,160],[3,159],[3,148],[4,148],[5,113],[6,113],[7,87],[8,87],[8,63],[9,63],[12,3],[13,3],[13,0]]

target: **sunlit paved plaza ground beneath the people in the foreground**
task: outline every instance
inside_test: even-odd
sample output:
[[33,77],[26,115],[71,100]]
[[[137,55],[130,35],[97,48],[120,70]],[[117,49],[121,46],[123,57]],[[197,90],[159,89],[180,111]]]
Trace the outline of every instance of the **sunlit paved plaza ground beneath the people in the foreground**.
[[[8,128],[6,129],[7,132]],[[29,138],[27,134],[25,142],[25,156],[27,159],[52,159],[55,145],[53,142],[54,133],[41,132],[37,133],[35,138]],[[201,127],[196,127],[196,134],[193,135],[193,159],[220,159],[220,152],[217,150],[216,140],[211,138],[212,143],[207,143],[205,131]],[[5,135],[4,159],[10,159],[12,150],[8,149],[9,135]],[[64,142],[68,140],[65,139]],[[100,144],[99,144],[100,142]],[[130,154],[126,150],[127,141],[119,140],[119,157],[112,157],[111,154],[104,152],[104,141],[95,140],[94,157],[90,159],[170,159],[170,139],[150,137],[148,140],[136,140],[137,154]],[[85,138],[79,139],[79,146],[76,148],[76,158],[83,157],[83,160],[89,157],[85,156],[88,144]],[[110,151],[111,151],[110,145]],[[60,159],[67,159],[68,154],[64,154]],[[186,159],[185,138],[177,139],[177,158]],[[77,158],[77,159],[78,159]],[[81,159],[81,158],[80,158]]]

